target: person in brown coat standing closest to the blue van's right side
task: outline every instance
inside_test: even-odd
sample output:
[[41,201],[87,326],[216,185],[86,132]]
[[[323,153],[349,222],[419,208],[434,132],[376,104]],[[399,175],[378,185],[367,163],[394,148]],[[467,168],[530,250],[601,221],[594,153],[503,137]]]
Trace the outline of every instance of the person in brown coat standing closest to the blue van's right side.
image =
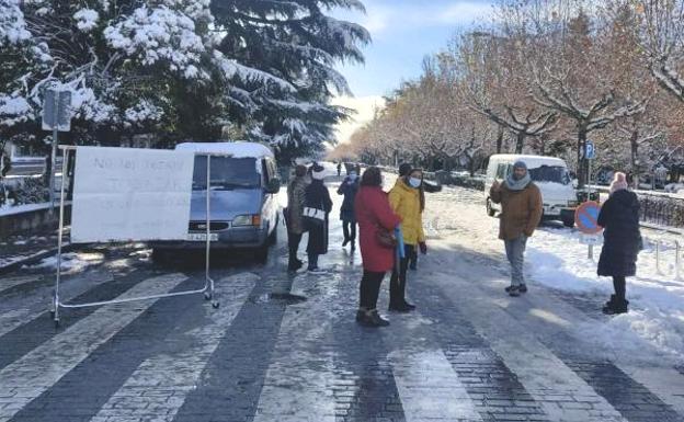
[[297,271],[304,263],[297,258],[299,242],[304,233],[304,203],[306,197],[307,168],[297,166],[295,178],[287,185],[287,208],[284,209],[285,223],[287,225],[287,247],[289,249],[289,260],[287,270]]

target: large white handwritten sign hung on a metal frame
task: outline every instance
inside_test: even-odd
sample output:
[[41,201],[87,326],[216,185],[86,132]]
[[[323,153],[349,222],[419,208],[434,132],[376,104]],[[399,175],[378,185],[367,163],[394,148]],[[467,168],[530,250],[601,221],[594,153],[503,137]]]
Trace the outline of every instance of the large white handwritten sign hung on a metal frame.
[[71,241],[184,240],[194,153],[79,147]]

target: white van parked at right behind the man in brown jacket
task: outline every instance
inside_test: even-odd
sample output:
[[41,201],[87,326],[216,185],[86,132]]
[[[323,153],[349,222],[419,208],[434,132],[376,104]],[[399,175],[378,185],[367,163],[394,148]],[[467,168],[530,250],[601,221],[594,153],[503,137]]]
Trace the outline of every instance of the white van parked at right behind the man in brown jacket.
[[574,209],[578,197],[566,161],[556,157],[522,156],[500,153],[491,156],[487,167],[485,194],[487,195],[487,214],[491,217],[501,210],[501,205],[492,203],[489,189],[494,181],[502,182],[512,171],[513,163],[523,161],[532,180],[542,192],[544,218],[561,220],[567,227],[574,225]]

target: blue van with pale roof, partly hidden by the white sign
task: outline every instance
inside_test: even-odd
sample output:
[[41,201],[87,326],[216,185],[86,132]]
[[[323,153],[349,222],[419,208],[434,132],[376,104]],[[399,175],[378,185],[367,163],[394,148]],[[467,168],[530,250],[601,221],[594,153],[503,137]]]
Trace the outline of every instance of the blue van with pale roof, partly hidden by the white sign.
[[[278,224],[281,180],[273,151],[254,142],[184,142],[175,149],[196,153],[187,238],[153,242],[155,256],[206,247],[208,192],[210,248],[255,249],[265,261]],[[212,155],[209,190],[206,153]]]

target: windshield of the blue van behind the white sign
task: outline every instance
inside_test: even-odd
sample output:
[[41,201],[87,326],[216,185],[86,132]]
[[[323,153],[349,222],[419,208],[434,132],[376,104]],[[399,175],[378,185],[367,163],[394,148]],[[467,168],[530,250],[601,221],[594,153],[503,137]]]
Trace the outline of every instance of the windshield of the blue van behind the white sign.
[[[206,157],[195,157],[193,191],[206,190]],[[212,157],[212,190],[254,189],[261,186],[256,159]]]

